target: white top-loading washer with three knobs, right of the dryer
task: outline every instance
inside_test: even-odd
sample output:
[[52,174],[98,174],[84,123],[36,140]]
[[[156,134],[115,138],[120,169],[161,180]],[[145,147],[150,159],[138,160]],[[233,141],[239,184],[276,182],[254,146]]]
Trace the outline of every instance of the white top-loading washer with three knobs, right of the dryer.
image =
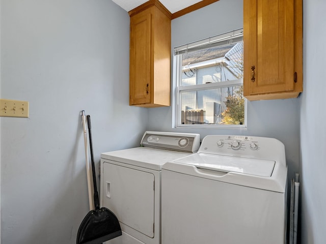
[[286,185],[282,142],[206,136],[162,167],[162,244],[286,243]]

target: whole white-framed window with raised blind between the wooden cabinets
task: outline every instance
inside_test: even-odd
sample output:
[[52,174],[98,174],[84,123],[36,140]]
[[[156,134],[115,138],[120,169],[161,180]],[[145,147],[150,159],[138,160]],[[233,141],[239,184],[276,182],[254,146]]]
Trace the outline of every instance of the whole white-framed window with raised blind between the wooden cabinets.
[[246,128],[242,29],[174,49],[176,126]]

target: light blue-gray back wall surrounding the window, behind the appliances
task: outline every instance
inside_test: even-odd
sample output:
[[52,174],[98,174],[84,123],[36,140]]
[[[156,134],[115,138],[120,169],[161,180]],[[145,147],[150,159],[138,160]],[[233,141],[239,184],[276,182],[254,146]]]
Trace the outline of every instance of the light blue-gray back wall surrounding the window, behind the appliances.
[[[172,20],[172,49],[189,42],[243,27],[242,0],[220,0],[205,8]],[[172,106],[150,108],[148,129],[210,134],[241,134],[273,137],[285,144],[289,178],[298,172],[300,149],[300,99],[248,101],[248,130],[175,129]]]

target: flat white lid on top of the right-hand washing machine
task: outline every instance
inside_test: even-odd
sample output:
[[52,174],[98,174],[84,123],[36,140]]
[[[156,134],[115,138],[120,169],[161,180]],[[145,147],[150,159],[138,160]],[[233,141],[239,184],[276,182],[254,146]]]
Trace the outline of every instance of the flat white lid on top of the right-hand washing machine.
[[226,155],[193,154],[191,156],[175,160],[176,163],[191,164],[197,168],[238,172],[257,176],[270,177],[273,173],[275,161],[232,157]]

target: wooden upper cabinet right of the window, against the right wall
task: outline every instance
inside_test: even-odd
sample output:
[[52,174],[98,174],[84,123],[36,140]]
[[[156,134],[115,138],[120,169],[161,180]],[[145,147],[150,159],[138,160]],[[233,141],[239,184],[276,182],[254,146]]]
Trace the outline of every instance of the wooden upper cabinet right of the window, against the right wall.
[[244,0],[243,93],[295,98],[303,90],[302,0]]

